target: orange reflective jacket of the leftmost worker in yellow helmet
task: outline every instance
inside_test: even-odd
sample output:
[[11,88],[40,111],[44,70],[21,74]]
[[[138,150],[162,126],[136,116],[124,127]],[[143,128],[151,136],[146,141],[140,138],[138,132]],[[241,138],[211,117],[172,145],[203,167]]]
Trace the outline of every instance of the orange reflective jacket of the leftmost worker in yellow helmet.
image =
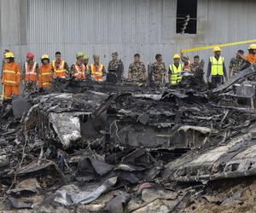
[[6,86],[20,84],[20,66],[16,62],[4,63],[2,82]]

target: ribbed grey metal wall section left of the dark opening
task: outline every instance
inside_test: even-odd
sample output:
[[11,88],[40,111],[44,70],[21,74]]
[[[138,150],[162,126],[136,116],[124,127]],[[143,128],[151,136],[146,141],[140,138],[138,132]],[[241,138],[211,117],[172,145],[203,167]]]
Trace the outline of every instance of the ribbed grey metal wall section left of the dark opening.
[[53,57],[60,50],[69,63],[78,50],[90,59],[101,55],[105,65],[118,51],[126,69],[135,53],[148,63],[157,53],[170,53],[165,34],[172,31],[165,31],[165,2],[170,2],[166,20],[175,23],[169,19],[175,16],[173,1],[29,0],[28,45],[37,55]]

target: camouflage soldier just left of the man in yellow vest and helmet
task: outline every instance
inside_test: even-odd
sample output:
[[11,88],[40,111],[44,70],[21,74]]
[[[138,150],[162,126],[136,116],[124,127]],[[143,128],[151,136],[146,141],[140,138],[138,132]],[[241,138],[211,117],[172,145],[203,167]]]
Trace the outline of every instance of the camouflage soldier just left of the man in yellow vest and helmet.
[[166,83],[165,77],[166,77],[166,65],[163,62],[162,55],[157,54],[155,55],[155,60],[153,64],[149,64],[149,72],[148,72],[148,78],[149,82],[154,83]]

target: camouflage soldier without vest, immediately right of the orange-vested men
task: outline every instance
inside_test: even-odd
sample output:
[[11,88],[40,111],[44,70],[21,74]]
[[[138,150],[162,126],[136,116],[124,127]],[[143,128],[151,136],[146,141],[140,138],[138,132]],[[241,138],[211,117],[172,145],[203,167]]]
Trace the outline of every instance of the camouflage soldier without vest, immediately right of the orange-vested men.
[[112,60],[108,63],[108,72],[114,73],[118,82],[123,78],[124,64],[122,60],[119,59],[117,52],[112,54]]

